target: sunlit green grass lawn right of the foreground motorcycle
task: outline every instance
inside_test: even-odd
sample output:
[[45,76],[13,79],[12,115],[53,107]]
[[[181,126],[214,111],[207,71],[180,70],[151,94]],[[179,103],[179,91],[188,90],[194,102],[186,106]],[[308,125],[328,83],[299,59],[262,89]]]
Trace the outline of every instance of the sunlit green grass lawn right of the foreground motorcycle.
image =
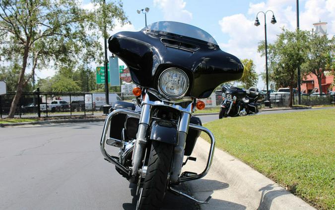
[[224,118],[204,126],[216,147],[314,207],[335,209],[335,109]]

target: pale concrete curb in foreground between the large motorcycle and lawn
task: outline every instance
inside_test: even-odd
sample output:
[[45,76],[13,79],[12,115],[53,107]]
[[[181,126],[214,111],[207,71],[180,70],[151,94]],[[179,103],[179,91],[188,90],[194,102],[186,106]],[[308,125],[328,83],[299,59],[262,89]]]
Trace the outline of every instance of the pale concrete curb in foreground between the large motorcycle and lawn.
[[[198,168],[199,165],[205,165],[207,160],[208,153],[204,152],[207,151],[204,148],[209,148],[209,143],[199,138],[193,153],[193,156],[198,157]],[[192,171],[192,168],[187,170]],[[201,205],[202,210],[315,210],[250,166],[219,149],[215,150],[209,173],[190,183],[193,184],[188,187],[199,200],[205,200],[211,193],[213,199],[209,204]]]

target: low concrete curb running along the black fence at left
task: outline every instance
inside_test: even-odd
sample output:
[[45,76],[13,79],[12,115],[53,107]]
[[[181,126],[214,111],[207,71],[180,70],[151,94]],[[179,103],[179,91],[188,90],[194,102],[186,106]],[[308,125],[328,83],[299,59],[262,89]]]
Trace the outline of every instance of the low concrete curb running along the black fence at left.
[[50,123],[69,123],[69,122],[101,122],[105,121],[104,118],[88,118],[88,119],[51,119],[35,122],[14,122],[14,123],[1,123],[0,127],[16,126],[16,125],[36,125],[36,124],[50,124]]

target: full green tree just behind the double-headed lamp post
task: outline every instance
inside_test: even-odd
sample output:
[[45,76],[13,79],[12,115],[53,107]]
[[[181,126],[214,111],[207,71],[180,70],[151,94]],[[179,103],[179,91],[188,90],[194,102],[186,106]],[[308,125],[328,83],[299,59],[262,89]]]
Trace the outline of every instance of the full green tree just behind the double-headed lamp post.
[[[274,44],[268,44],[268,63],[270,78],[277,87],[289,87],[289,106],[293,105],[293,88],[297,84],[296,69],[306,59],[307,32],[282,29]],[[265,55],[265,44],[258,46]]]

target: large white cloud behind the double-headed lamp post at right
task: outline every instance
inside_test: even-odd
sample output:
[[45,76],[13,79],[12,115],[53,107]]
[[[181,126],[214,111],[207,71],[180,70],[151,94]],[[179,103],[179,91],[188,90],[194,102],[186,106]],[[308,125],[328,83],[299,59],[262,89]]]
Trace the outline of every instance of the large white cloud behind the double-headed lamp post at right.
[[[313,23],[321,21],[328,22],[327,28],[329,36],[335,33],[335,0],[306,0],[300,1],[300,28],[311,30]],[[258,43],[265,39],[264,35],[264,15],[259,14],[260,26],[254,26],[256,14],[259,11],[274,12],[277,23],[272,25],[270,20],[272,13],[267,13],[267,35],[268,43],[276,39],[276,35],[285,27],[289,30],[296,28],[296,5],[291,0],[268,0],[260,3],[250,3],[248,16],[244,14],[234,14],[223,17],[219,20],[219,25],[223,33],[229,35],[229,40],[220,43],[222,50],[231,53],[240,59],[253,59],[258,73],[265,72],[265,57],[261,57],[257,52]],[[265,84],[259,78],[258,87],[264,88]]]

